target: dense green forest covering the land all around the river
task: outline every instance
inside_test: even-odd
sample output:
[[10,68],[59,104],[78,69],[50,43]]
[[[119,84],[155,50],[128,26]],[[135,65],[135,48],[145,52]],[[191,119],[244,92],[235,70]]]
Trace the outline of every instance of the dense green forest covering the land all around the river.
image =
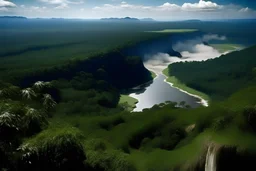
[[[137,56],[140,48],[133,45],[143,45],[144,51],[152,47],[153,38],[169,36],[142,31],[170,25],[197,28],[197,24],[136,24],[137,28],[122,24],[115,28],[113,23],[104,28],[96,22],[93,27],[83,25],[87,30],[82,32],[76,23],[67,27],[69,23],[57,22],[48,27],[44,22],[19,23],[19,28],[10,22],[7,34],[0,34],[9,36],[0,47],[0,170],[205,170],[211,148],[218,151],[218,170],[254,166],[256,47],[206,62],[170,66],[171,75],[212,97],[209,107],[191,109],[184,104],[180,108],[169,102],[131,113],[119,104],[120,92],[152,79]],[[215,24],[202,23],[200,27],[202,31],[223,28],[223,23],[212,28]],[[34,30],[29,33],[26,28],[31,25]],[[224,25],[229,29],[221,32],[227,34],[234,26]],[[49,41],[60,26],[65,26],[61,34]],[[123,31],[116,32],[120,27]],[[101,29],[92,34],[95,28]],[[98,35],[102,28],[106,29],[103,37]],[[29,36],[24,40],[11,36],[22,38],[26,32]],[[238,34],[237,39],[243,36]],[[120,42],[125,46],[114,46]],[[134,50],[131,54],[122,48],[126,45]],[[215,100],[220,98],[222,101]]]

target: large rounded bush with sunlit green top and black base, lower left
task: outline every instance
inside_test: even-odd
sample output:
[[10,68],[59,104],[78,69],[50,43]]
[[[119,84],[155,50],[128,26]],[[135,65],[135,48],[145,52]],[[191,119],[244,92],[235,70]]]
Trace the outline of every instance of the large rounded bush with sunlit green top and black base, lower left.
[[41,132],[19,147],[25,170],[83,170],[83,136],[74,128],[52,128]]

